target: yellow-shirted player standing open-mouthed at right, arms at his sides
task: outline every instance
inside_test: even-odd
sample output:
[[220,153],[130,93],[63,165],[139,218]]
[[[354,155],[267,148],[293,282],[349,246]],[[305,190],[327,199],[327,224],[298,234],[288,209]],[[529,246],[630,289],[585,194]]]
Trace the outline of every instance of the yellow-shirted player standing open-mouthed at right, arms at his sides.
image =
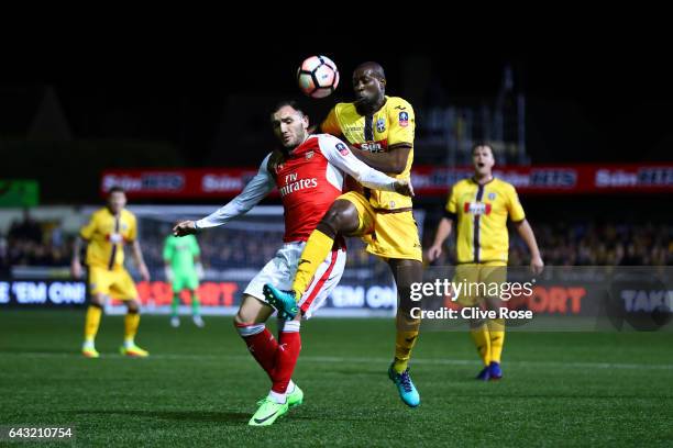
[[[470,282],[505,281],[509,251],[507,233],[509,216],[528,245],[531,270],[533,273],[540,273],[544,264],[517,192],[510,183],[493,177],[492,170],[495,165],[493,148],[483,144],[475,145],[472,157],[474,177],[453,186],[445,215],[440,221],[434,243],[428,250],[428,259],[434,261],[441,255],[442,244],[451,234],[452,221],[457,221],[460,266],[456,269],[456,279],[467,279]],[[474,306],[477,299],[483,299],[489,309],[499,307],[497,299],[492,298],[463,298],[461,304]],[[493,320],[488,324],[472,321],[470,326],[473,340],[485,365],[477,379],[485,381],[500,379],[503,377],[500,357],[505,343],[504,321]]]

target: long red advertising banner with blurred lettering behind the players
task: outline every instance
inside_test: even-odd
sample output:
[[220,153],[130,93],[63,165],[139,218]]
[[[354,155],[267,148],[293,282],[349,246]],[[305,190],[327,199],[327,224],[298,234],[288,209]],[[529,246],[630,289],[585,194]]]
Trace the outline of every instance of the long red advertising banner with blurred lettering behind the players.
[[[256,172],[256,168],[108,170],[100,192],[119,186],[131,198],[227,198],[240,193]],[[421,165],[413,168],[413,188],[417,194],[445,195],[450,186],[472,173],[471,167]],[[497,167],[494,175],[523,194],[673,192],[673,163]]]

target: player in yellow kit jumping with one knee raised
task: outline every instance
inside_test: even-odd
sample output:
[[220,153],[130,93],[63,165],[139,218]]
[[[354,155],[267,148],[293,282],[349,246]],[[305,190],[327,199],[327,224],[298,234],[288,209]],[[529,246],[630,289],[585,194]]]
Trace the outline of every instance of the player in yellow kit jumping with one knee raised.
[[[320,127],[347,142],[350,150],[372,168],[408,179],[413,163],[413,109],[401,98],[386,97],[385,88],[383,67],[376,63],[361,64],[353,72],[355,101],[336,104]],[[401,400],[415,407],[420,404],[420,396],[409,377],[408,363],[420,320],[409,314],[409,292],[411,283],[422,281],[422,249],[411,198],[361,186],[357,190],[339,197],[309,237],[293,291],[285,293],[269,285],[268,293],[291,309],[331,250],[335,236],[363,236],[367,251],[387,261],[395,277],[400,301],[395,358],[388,376]]]

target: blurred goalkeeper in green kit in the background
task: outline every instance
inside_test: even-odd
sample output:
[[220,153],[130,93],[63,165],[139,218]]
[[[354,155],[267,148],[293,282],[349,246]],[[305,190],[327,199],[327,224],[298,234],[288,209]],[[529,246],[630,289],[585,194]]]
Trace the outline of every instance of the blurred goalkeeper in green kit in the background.
[[178,317],[178,305],[180,293],[189,290],[191,298],[191,315],[196,326],[205,325],[200,314],[199,296],[197,289],[199,280],[203,278],[203,267],[200,262],[199,244],[196,236],[187,235],[181,238],[168,236],[164,244],[164,265],[166,280],[173,283],[173,304],[170,306],[170,325],[180,326]]

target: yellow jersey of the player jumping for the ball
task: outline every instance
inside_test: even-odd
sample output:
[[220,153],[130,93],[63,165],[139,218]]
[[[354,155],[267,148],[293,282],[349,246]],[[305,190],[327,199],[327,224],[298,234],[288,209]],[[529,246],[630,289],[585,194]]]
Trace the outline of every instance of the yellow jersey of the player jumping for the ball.
[[[405,170],[395,178],[408,178],[413,163],[413,133],[416,117],[411,104],[398,97],[386,97],[386,102],[373,115],[357,113],[355,104],[339,103],[320,126],[322,132],[345,138],[351,145],[371,153],[387,152],[399,143],[411,145]],[[411,198],[396,192],[371,190],[369,202],[375,209],[406,209]]]

